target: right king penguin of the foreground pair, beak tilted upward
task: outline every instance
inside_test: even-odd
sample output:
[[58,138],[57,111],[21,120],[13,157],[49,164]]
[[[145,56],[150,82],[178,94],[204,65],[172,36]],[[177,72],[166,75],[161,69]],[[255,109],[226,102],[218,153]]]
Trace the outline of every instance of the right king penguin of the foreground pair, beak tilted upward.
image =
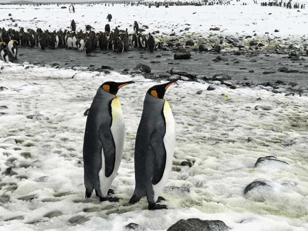
[[167,209],[166,205],[156,205],[171,172],[175,147],[175,123],[164,94],[177,80],[153,86],[145,95],[136,135],[136,185],[131,205],[146,196],[148,209]]

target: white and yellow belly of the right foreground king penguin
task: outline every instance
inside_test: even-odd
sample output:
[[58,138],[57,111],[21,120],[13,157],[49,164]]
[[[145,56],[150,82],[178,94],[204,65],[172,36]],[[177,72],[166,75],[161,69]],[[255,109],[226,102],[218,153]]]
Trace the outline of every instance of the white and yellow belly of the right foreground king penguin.
[[169,103],[166,100],[164,103],[164,117],[166,121],[166,133],[163,140],[166,149],[166,164],[164,174],[161,180],[155,185],[152,184],[154,191],[154,202],[157,201],[159,194],[163,191],[163,188],[165,187],[169,179],[175,147],[175,122]]

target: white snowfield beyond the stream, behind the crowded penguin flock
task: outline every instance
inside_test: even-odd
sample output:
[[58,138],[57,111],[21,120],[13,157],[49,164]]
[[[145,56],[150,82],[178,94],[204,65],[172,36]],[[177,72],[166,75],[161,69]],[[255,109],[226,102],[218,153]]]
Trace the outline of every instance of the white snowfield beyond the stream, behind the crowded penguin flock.
[[[1,8],[1,19],[9,19],[8,14],[16,20],[2,21],[1,27],[18,26],[24,28],[36,29],[37,27],[45,30],[62,30],[69,28],[72,19],[75,20],[77,30],[85,30],[85,25],[89,24],[95,30],[104,30],[107,22],[107,14],[112,14],[112,21],[109,23],[111,29],[120,26],[119,29],[128,28],[132,31],[134,21],[149,26],[147,31],[152,32],[160,30],[167,34],[173,32],[180,33],[185,27],[189,27],[189,32],[209,33],[211,27],[218,26],[221,31],[215,31],[218,34],[249,34],[257,33],[263,36],[265,32],[275,36],[301,37],[306,34],[307,8],[286,9],[284,7],[269,7],[254,4],[252,0],[247,1],[246,6],[241,4],[244,1],[231,1],[228,6],[170,6],[151,7],[148,6],[124,6],[124,4],[115,4],[114,6],[94,5],[87,6],[75,5],[75,14],[70,14],[67,9],[60,9],[57,5],[49,6],[15,6],[4,5]],[[307,3],[302,0],[299,4]],[[232,5],[234,4],[234,5]],[[308,4],[307,4],[308,7]],[[195,13],[195,14],[193,14]],[[271,13],[271,14],[270,14]],[[20,20],[20,21],[18,21]],[[185,23],[190,26],[184,25]],[[174,31],[172,31],[172,29]],[[280,32],[274,33],[278,29]],[[181,32],[186,33],[187,31]],[[161,35],[161,33],[159,34]]]

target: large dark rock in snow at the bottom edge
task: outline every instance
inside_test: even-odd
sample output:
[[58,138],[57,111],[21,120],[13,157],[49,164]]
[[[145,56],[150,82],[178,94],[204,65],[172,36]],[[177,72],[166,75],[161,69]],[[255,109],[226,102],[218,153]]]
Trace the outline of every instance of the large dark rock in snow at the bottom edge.
[[200,220],[198,218],[181,219],[170,226],[167,231],[227,231],[230,228],[223,221]]

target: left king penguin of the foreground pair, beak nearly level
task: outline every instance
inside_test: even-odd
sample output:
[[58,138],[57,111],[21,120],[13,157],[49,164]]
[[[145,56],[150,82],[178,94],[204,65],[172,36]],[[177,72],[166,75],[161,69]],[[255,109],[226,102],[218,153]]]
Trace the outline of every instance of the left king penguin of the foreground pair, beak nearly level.
[[86,198],[93,189],[100,201],[119,201],[107,197],[122,159],[125,125],[118,90],[133,81],[105,82],[96,92],[88,112],[83,140],[83,168]]

